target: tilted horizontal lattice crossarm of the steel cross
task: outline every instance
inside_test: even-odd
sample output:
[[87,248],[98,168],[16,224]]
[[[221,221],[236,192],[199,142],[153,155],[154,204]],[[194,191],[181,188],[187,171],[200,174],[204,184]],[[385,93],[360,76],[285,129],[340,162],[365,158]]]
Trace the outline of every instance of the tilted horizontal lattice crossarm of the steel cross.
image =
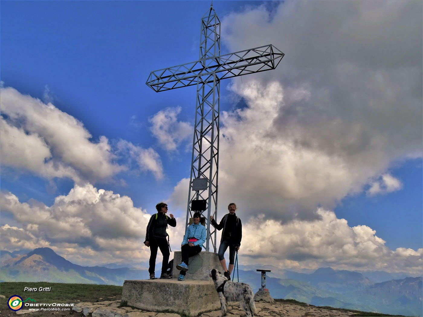
[[211,83],[217,80],[275,69],[283,54],[272,44],[152,71],[146,84],[156,92]]

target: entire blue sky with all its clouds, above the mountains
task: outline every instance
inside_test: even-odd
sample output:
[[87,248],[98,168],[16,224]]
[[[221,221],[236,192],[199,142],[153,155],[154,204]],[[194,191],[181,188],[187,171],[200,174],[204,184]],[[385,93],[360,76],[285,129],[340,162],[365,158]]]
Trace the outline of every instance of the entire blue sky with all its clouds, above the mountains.
[[[179,247],[195,87],[145,82],[198,58],[209,7],[1,2],[2,249],[142,262],[162,200]],[[421,272],[422,3],[213,8],[222,54],[286,54],[274,71],[221,83],[218,212],[239,206],[243,263]]]

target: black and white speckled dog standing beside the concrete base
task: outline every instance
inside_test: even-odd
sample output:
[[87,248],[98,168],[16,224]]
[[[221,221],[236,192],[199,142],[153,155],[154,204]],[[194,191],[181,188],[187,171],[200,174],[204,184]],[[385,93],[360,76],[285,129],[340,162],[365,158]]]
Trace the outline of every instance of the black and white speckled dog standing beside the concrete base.
[[225,316],[228,312],[228,301],[239,301],[239,305],[244,309],[247,317],[254,316],[256,312],[254,294],[250,285],[228,281],[226,276],[215,269],[210,270],[209,276],[214,282],[217,295],[219,295],[220,317]]

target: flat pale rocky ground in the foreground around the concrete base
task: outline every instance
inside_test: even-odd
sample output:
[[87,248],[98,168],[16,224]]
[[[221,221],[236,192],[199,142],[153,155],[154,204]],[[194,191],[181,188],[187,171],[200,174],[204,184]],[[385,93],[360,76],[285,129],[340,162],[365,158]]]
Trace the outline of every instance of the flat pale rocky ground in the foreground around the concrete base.
[[[71,314],[73,317],[92,316],[92,317],[180,317],[179,314],[175,313],[157,313],[147,312],[142,309],[135,309],[131,307],[121,307],[120,301],[101,301],[96,303],[77,303],[73,307]],[[256,302],[257,308],[256,316],[266,317],[347,317],[354,315],[354,312],[349,312],[343,309],[326,309],[319,308],[316,306],[298,306],[291,303],[266,303]],[[21,310],[16,314],[29,314],[29,311]],[[47,313],[49,316],[52,312]],[[53,315],[57,316],[69,316],[69,313],[56,312]],[[205,312],[200,314],[199,317],[219,317],[220,310]],[[245,316],[244,311],[239,307],[239,304],[233,303],[229,305],[227,317],[243,317]]]

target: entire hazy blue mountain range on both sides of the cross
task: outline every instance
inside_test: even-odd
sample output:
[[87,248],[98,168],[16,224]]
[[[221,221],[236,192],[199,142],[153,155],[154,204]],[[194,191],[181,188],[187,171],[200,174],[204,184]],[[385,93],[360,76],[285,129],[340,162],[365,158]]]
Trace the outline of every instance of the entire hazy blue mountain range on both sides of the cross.
[[[101,265],[76,265],[49,248],[0,251],[0,281],[122,285],[126,279],[148,279],[146,263],[126,261]],[[158,263],[157,267],[160,266]],[[250,284],[255,291],[261,287],[261,273],[256,268],[257,265],[239,265],[238,270],[239,280]],[[271,265],[259,268],[271,270],[267,273],[266,287],[273,298],[385,314],[423,315],[422,276],[332,268],[294,272]]]

